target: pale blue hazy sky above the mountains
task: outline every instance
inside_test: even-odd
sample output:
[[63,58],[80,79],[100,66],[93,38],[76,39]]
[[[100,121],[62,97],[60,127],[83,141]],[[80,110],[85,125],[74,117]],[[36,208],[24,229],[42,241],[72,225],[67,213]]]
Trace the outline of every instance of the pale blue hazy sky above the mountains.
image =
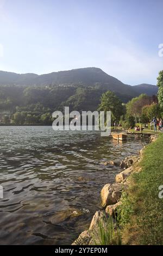
[[162,9],[162,0],[0,0],[0,70],[95,66],[126,84],[156,84]]

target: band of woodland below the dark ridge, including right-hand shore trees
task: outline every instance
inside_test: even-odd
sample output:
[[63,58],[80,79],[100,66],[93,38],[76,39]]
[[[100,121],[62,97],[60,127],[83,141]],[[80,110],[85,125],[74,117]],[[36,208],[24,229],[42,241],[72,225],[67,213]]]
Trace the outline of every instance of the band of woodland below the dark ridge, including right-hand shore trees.
[[[140,117],[143,121],[149,121],[145,109],[158,103],[155,95],[141,94],[127,103],[118,96],[94,87],[0,87],[1,124],[51,125],[52,113],[55,110],[64,111],[64,107],[69,106],[70,111],[79,112],[108,109],[112,112],[112,119],[120,120],[123,124],[126,120],[126,126],[129,126],[136,118],[137,121]],[[155,109],[157,111],[158,108]]]

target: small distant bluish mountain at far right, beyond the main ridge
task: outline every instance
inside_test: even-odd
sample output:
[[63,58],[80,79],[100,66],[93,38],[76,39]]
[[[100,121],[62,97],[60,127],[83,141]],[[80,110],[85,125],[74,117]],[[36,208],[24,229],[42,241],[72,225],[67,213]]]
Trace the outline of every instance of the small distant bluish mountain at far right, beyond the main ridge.
[[156,95],[158,93],[158,87],[153,84],[142,83],[133,87],[135,92],[145,93],[148,96]]

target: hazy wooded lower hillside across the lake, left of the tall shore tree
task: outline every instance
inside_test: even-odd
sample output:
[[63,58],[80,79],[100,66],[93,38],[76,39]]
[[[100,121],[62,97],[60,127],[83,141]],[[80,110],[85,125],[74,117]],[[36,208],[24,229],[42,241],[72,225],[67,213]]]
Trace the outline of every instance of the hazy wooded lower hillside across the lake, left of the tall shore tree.
[[0,87],[1,123],[49,124],[55,110],[93,111],[105,88],[79,86]]

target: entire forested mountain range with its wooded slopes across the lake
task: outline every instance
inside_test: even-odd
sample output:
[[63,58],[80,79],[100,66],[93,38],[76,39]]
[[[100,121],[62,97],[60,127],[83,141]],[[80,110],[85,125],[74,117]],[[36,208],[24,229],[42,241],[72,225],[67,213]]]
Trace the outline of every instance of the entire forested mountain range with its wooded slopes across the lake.
[[108,90],[123,103],[141,93],[157,93],[156,86],[128,86],[97,68],[40,76],[0,71],[0,123],[14,118],[16,124],[51,124],[53,111],[62,111],[64,106],[70,111],[95,111]]

